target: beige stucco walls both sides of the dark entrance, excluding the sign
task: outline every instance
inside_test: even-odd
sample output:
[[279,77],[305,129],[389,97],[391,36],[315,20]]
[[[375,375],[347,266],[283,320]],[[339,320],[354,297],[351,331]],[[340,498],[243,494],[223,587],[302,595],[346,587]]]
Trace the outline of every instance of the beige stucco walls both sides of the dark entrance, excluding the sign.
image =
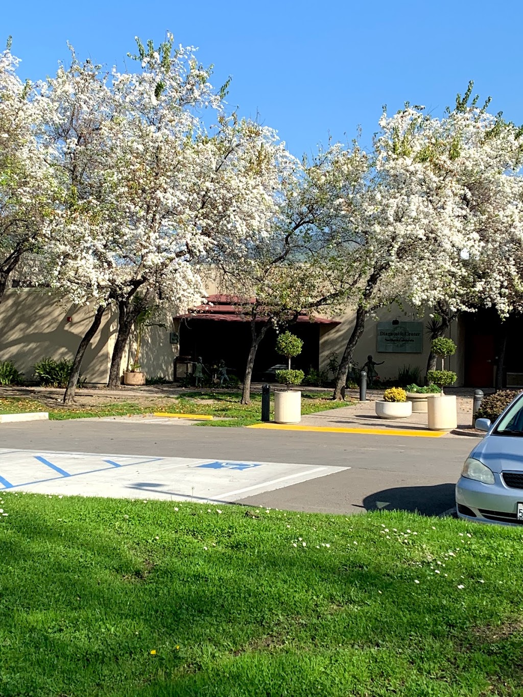
[[[13,360],[27,378],[33,374],[33,365],[37,360],[48,356],[56,358],[73,358],[80,339],[91,324],[95,305],[77,307],[67,299],[57,300],[36,289],[10,290],[0,303],[0,360]],[[72,321],[68,322],[70,316]],[[404,365],[416,366],[420,374],[425,375],[427,358],[430,353],[430,339],[425,332],[425,325],[430,317],[420,319],[409,308],[382,309],[379,320],[423,321],[423,351],[421,353],[380,353],[377,351],[377,321],[367,319],[363,336],[356,346],[354,360],[361,367],[372,355],[374,361],[384,361],[377,367],[382,379],[394,379],[398,370]],[[341,324],[334,328],[319,326],[319,362],[321,369],[326,368],[329,355],[334,351],[341,359],[344,348],[354,328],[354,312],[347,312],[336,319]],[[169,332],[179,332],[172,319],[163,319],[167,328],[149,327],[144,332],[142,351],[139,358],[142,370],[147,376],[162,375],[167,380],[174,377],[174,358],[179,353],[179,344],[169,342]],[[212,323],[209,323],[212,325]],[[116,339],[117,316],[112,312],[104,316],[100,330],[87,348],[82,365],[82,377],[88,383],[107,383],[112,349]],[[456,385],[464,381],[464,326],[455,322],[450,328],[450,337],[457,344],[456,354],[450,358],[450,369],[457,373]],[[212,340],[212,339],[211,339]],[[124,353],[122,372],[135,358],[136,334],[131,335],[129,346]],[[446,368],[448,368],[448,361]]]

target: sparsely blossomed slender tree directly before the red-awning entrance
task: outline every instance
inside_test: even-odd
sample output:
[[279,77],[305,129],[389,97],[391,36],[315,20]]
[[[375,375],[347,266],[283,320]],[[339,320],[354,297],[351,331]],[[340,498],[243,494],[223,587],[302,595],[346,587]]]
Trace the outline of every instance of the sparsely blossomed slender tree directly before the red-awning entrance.
[[294,323],[303,313],[340,309],[354,286],[331,230],[344,220],[342,194],[360,180],[365,153],[332,146],[302,163],[281,153],[266,155],[272,162],[272,206],[261,209],[264,217],[241,245],[214,260],[222,291],[250,323],[242,404],[250,404],[252,370],[268,329]]

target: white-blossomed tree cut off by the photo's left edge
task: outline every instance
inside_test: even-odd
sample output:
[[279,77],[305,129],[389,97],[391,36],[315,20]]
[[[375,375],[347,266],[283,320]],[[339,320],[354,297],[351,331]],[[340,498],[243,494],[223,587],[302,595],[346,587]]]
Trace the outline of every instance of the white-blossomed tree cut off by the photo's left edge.
[[24,274],[39,280],[40,252],[49,233],[56,194],[47,152],[38,140],[39,86],[17,77],[18,59],[0,54],[0,302],[8,279],[24,260]]

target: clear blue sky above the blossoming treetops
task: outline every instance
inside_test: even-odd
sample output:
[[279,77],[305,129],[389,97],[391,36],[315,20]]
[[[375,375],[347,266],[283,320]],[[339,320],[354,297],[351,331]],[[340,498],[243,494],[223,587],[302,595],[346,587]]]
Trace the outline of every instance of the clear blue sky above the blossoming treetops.
[[469,79],[494,112],[522,123],[522,16],[515,0],[19,0],[2,7],[0,40],[13,36],[20,75],[38,79],[68,58],[67,41],[80,58],[123,68],[136,35],[158,43],[169,29],[214,63],[217,86],[232,76],[229,104],[258,114],[301,156],[329,134],[352,139],[358,125],[370,146],[384,104],[439,115]]

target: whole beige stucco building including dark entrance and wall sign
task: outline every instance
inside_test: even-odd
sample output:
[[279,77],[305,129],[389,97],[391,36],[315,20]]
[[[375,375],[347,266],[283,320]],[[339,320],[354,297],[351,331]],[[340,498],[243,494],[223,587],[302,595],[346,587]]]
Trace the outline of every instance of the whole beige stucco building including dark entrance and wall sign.
[[[36,361],[48,356],[73,358],[79,341],[92,321],[94,306],[77,307],[66,299],[49,296],[40,289],[10,289],[0,304],[0,360],[12,360],[17,368],[31,378]],[[166,328],[153,326],[146,330],[142,340],[140,364],[147,376],[174,378],[174,359],[183,355],[205,362],[223,358],[232,372],[242,378],[250,342],[248,323],[229,314],[200,313],[191,318],[169,318]],[[367,355],[381,363],[377,370],[380,378],[394,379],[403,366],[418,367],[424,376],[430,351],[426,325],[428,316],[420,318],[414,311],[391,307],[382,309],[378,319],[368,319],[354,360],[363,365]],[[310,323],[305,318],[292,328],[304,339],[303,353],[296,359],[296,367],[308,372],[310,367],[325,369],[331,353],[341,358],[344,346],[354,325],[354,312],[343,316]],[[450,337],[458,351],[450,358],[450,369],[458,376],[457,385],[466,382],[464,357],[466,340],[464,324],[455,322]],[[112,349],[116,339],[117,317],[107,311],[103,323],[86,351],[82,377],[87,383],[107,383]],[[274,350],[275,337],[270,333],[260,344],[257,372],[281,363]],[[122,372],[132,362],[135,336],[123,357]],[[490,386],[490,385],[481,385]]]

